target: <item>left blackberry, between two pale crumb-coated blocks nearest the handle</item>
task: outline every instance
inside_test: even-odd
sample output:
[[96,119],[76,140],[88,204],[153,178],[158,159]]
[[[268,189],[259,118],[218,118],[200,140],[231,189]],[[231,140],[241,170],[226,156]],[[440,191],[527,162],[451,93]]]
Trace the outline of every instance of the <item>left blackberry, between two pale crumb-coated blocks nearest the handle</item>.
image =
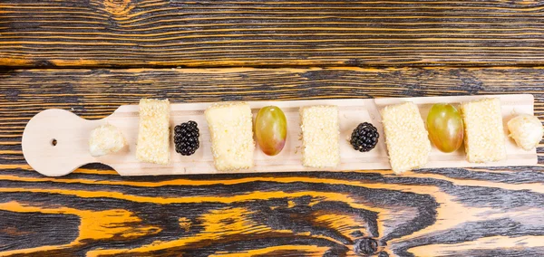
[[182,156],[190,156],[194,154],[200,147],[199,143],[199,128],[197,122],[189,120],[183,122],[174,128],[174,144],[176,152]]

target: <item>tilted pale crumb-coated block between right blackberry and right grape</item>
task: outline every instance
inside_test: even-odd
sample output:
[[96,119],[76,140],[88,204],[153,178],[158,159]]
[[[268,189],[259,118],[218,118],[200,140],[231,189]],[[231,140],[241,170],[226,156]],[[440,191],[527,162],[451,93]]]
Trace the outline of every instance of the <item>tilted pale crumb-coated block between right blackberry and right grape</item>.
[[417,105],[413,102],[390,105],[381,113],[393,172],[401,174],[423,167],[429,160],[431,141]]

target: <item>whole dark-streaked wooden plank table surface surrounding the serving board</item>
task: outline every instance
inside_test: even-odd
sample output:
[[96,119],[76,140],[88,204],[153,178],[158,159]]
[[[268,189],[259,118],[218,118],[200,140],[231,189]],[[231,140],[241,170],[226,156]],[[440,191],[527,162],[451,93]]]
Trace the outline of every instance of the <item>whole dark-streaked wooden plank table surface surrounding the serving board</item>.
[[[0,255],[535,256],[544,168],[40,176],[37,112],[172,102],[532,93],[539,1],[4,0]],[[539,148],[541,156],[544,148]]]

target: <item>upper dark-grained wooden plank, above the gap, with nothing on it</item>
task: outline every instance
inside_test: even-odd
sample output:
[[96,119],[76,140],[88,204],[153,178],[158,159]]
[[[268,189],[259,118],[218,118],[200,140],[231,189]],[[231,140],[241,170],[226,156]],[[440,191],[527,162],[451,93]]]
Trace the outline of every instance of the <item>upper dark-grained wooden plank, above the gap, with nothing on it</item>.
[[5,0],[0,66],[542,64],[539,1]]

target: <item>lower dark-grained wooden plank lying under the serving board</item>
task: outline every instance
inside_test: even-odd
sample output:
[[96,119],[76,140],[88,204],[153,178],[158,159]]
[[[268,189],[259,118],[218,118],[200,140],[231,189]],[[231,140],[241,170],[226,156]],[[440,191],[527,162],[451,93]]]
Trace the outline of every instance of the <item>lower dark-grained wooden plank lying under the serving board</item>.
[[180,102],[533,93],[536,114],[544,119],[543,75],[544,67],[5,71],[0,255],[541,255],[541,157],[537,167],[428,169],[404,176],[121,177],[90,165],[52,178],[26,165],[20,140],[25,123],[42,109],[99,119],[142,97]]

